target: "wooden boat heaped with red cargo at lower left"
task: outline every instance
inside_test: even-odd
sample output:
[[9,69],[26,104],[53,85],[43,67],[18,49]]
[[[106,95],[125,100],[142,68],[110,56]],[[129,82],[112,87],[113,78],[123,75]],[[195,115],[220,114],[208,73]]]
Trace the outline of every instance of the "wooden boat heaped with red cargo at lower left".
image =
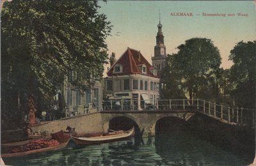
[[[63,130],[61,130],[60,132],[51,133],[51,136],[52,136],[52,140],[34,139],[34,140],[31,140],[29,143],[26,142],[22,146],[12,146],[5,149],[3,148],[1,157],[8,158],[8,157],[16,157],[16,156],[25,156],[25,155],[31,155],[34,153],[58,150],[67,146],[68,141],[70,139],[70,135],[63,133]],[[39,143],[36,144],[35,142],[39,140],[45,141],[46,144],[39,144]],[[28,150],[28,147],[32,147],[33,144],[35,144],[33,149]],[[40,145],[42,145],[42,147],[39,148],[38,146]],[[16,150],[19,150],[19,151],[15,153]]]

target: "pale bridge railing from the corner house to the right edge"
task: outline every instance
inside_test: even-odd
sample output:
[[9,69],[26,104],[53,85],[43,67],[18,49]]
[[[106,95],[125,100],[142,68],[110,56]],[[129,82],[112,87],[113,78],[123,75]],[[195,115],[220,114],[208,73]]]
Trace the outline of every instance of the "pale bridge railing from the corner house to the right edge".
[[118,99],[108,100],[102,103],[104,111],[108,110],[132,110],[132,111],[172,111],[172,110],[196,110],[207,116],[219,119],[225,123],[239,125],[254,125],[252,109],[227,107],[221,104],[207,102],[205,100],[169,99],[169,100],[138,100]]

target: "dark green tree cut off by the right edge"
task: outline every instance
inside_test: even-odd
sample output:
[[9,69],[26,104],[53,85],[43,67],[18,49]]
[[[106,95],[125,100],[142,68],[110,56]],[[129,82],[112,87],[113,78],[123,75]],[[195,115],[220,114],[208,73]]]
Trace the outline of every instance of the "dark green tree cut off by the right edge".
[[230,51],[229,59],[234,62],[230,68],[231,91],[237,107],[255,107],[256,86],[256,41],[240,41]]

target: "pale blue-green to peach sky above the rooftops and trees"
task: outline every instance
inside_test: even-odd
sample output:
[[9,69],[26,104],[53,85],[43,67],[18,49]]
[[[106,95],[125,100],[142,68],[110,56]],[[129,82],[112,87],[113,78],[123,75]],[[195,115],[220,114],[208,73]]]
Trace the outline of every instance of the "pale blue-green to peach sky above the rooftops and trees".
[[[166,54],[177,53],[177,47],[190,38],[209,38],[220,50],[221,67],[230,68],[230,50],[237,42],[253,41],[256,37],[253,1],[99,1],[99,5],[99,13],[106,14],[113,25],[106,43],[108,53],[115,52],[117,59],[130,47],[140,50],[152,64],[159,12]],[[177,12],[193,16],[171,15]],[[225,14],[225,17],[204,16],[204,13]]]

